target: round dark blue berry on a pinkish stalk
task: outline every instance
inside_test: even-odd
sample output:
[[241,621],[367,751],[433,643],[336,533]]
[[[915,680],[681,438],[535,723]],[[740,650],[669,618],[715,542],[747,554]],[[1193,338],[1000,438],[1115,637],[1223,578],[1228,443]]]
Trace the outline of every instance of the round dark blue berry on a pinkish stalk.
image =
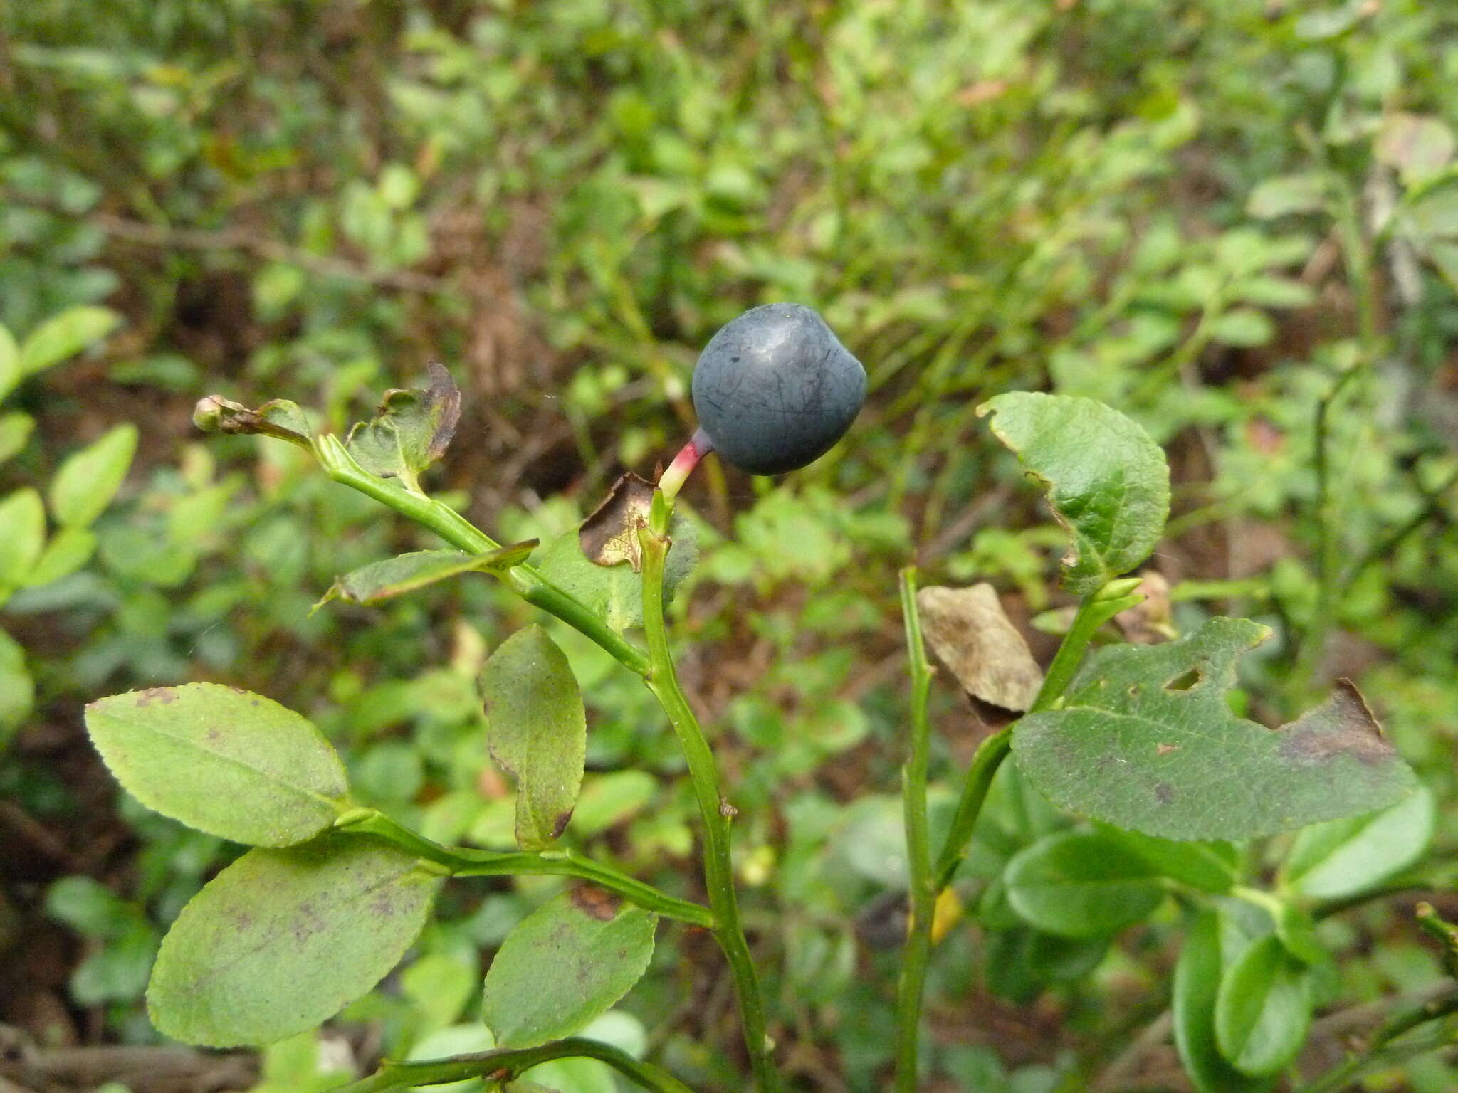
[[694,366],[694,410],[720,458],[752,475],[814,462],[866,399],[866,370],[818,312],[768,303],[732,319]]

